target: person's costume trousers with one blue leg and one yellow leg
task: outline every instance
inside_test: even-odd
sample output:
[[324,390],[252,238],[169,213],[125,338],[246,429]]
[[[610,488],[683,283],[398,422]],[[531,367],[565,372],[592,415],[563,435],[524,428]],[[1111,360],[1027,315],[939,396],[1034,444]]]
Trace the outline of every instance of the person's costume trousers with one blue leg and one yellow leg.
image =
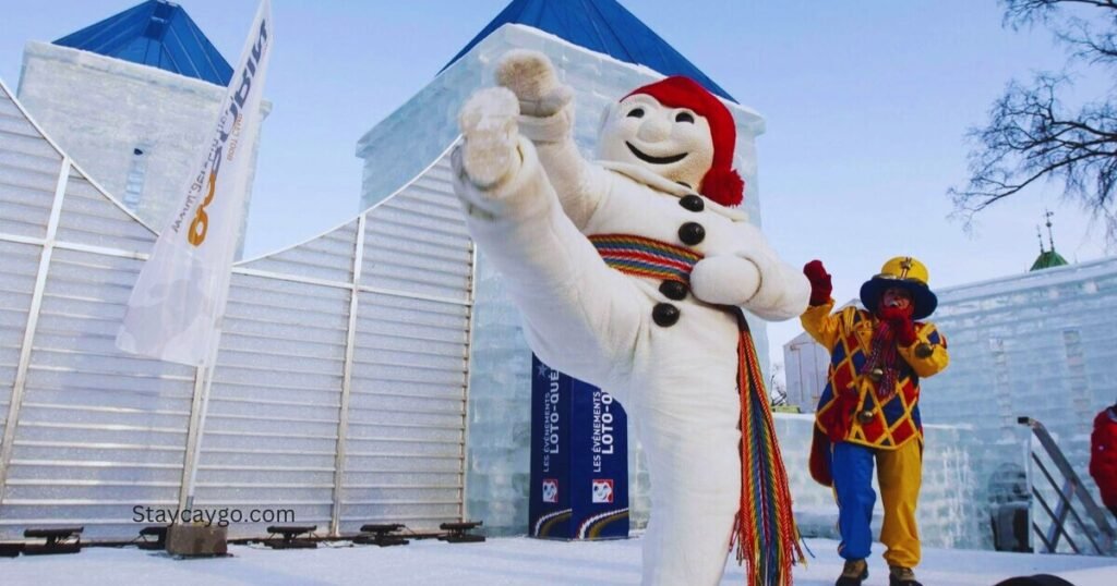
[[839,553],[846,559],[869,556],[872,508],[872,465],[877,463],[877,483],[885,508],[880,541],[888,548],[885,560],[889,566],[914,568],[919,564],[919,530],[915,509],[923,483],[923,446],[913,440],[896,450],[878,450],[849,442],[832,446],[831,471],[834,497],[838,500],[838,527],[842,544]]

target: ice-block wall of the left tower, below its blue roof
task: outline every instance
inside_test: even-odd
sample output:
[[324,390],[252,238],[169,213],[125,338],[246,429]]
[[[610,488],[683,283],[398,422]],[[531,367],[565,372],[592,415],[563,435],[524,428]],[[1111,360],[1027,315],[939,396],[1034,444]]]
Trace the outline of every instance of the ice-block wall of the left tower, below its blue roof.
[[[47,134],[156,231],[163,229],[194,166],[208,153],[225,92],[222,86],[155,67],[35,41],[23,50],[19,83],[20,102]],[[271,104],[265,102],[260,109],[266,117]],[[254,137],[246,212],[258,138]],[[246,213],[240,243],[247,221]]]

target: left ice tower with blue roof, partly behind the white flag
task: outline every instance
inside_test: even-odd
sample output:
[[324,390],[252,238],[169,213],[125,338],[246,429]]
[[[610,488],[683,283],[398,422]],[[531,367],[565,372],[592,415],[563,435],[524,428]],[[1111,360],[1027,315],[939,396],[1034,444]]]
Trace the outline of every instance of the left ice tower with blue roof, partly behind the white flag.
[[[94,181],[160,230],[203,155],[230,76],[182,7],[147,0],[51,44],[29,42],[18,95]],[[254,152],[254,172],[255,161]],[[241,242],[244,232],[242,223]]]

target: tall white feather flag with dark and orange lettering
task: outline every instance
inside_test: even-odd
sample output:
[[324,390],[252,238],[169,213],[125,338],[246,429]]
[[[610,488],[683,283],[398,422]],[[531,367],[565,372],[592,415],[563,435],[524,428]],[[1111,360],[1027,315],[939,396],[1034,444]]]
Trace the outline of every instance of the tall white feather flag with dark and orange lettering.
[[128,298],[116,347],[201,366],[218,340],[229,294],[248,165],[271,56],[271,2],[262,0],[232,73],[213,137]]

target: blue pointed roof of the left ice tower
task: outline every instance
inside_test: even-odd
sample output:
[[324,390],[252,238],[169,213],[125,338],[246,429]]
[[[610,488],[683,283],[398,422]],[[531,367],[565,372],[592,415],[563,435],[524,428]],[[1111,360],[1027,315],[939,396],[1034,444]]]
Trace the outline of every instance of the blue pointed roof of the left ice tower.
[[232,67],[179,4],[147,0],[55,41],[55,45],[150,65],[229,85]]

